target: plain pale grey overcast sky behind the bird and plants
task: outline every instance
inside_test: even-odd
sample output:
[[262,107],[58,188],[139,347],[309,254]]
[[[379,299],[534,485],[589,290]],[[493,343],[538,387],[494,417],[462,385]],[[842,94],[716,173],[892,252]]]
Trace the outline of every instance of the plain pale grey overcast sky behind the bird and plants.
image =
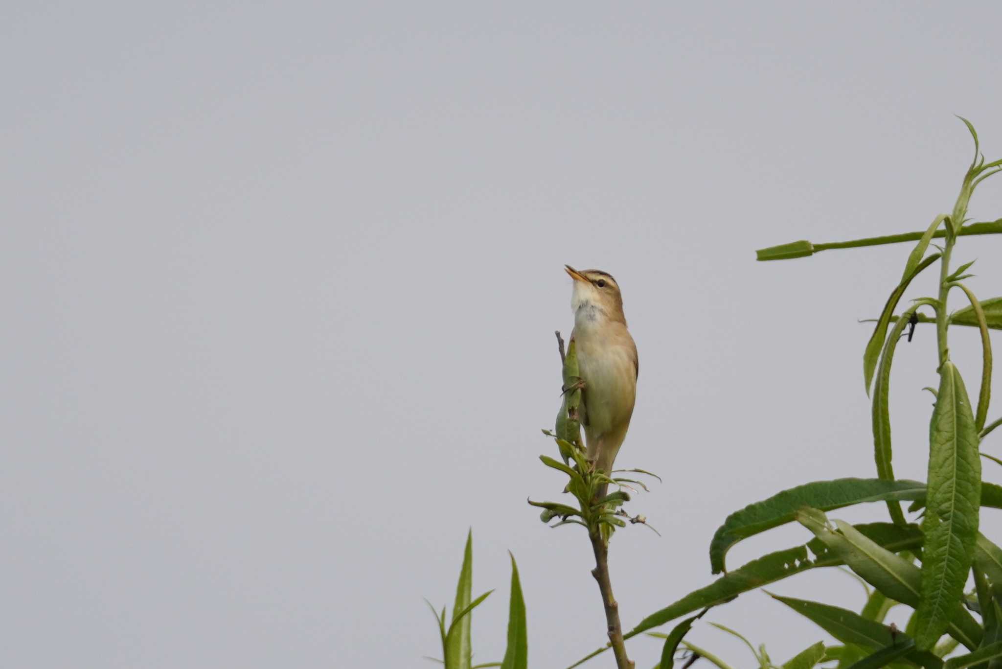
[[[563,484],[536,456],[564,263],[622,286],[619,462],[665,476],[631,506],[662,538],[613,545],[623,623],[708,583],[731,511],[874,475],[857,319],[909,249],[754,250],[949,211],[953,114],[1002,155],[1000,24],[998,2],[6,4],[0,666],[432,666],[422,597],[451,606],[470,526],[498,589],[478,660],[503,653],[508,550],[532,666],[598,646],[584,534],[525,504]],[[1002,216],[1002,179],[971,214]],[[982,297],[1000,254],[958,249]],[[953,336],[972,392],[977,342]],[[930,328],[897,365],[897,471],[924,478]],[[774,590],[863,603],[834,572]],[[761,593],[707,618],[781,662],[825,638]]]

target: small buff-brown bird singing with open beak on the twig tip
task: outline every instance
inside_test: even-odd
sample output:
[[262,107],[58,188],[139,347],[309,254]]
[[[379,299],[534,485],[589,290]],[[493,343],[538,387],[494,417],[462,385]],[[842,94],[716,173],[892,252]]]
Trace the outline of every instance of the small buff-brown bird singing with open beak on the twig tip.
[[636,344],[626,328],[622,293],[608,272],[577,271],[564,265],[573,282],[574,313],[581,390],[581,425],[587,458],[606,474],[626,438],[636,402],[640,365]]

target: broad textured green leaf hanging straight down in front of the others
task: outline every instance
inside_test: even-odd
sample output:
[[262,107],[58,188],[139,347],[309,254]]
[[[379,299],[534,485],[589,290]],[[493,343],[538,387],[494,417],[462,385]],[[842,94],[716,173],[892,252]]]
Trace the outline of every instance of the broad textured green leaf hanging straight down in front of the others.
[[978,432],[960,372],[949,360],[930,423],[929,496],[923,522],[922,598],[915,640],[929,650],[960,601],[974,557],[981,500]]

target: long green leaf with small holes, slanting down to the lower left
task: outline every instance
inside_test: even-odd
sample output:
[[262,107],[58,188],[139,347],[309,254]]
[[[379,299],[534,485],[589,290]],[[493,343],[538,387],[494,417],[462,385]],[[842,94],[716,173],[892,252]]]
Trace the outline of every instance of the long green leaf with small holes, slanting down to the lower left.
[[[856,529],[889,551],[905,551],[922,545],[922,533],[914,525],[902,528],[891,523],[873,523],[857,526]],[[842,560],[829,552],[817,539],[804,546],[770,553],[655,611],[624,634],[623,638],[629,639],[704,607],[729,602],[741,593],[776,583],[809,569],[835,567],[841,564]]]

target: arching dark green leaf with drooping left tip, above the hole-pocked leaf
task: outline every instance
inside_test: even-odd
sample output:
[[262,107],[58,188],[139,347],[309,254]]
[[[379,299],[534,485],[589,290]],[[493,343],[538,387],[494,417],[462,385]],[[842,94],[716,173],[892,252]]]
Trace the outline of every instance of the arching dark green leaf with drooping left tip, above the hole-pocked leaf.
[[804,507],[827,512],[864,501],[919,499],[925,496],[925,483],[907,479],[837,478],[798,485],[728,516],[710,542],[710,568],[713,574],[724,571],[724,558],[734,544],[791,523]]

